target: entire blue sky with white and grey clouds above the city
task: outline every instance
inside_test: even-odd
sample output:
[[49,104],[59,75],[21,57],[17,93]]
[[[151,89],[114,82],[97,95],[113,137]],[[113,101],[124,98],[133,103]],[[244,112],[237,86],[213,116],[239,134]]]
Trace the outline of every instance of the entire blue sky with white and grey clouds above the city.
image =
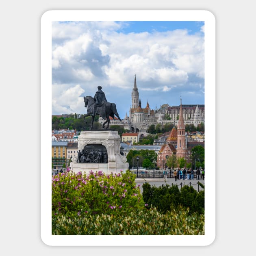
[[204,104],[204,22],[52,22],[52,115],[87,113],[100,85],[124,119],[135,74],[142,108]]

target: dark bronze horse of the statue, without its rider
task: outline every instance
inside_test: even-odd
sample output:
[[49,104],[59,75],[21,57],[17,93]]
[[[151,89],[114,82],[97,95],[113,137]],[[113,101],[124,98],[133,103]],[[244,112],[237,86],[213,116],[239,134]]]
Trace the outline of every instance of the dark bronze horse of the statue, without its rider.
[[115,103],[111,102],[104,102],[102,106],[96,107],[96,102],[91,96],[86,96],[84,97],[84,102],[85,102],[85,108],[87,108],[87,114],[84,115],[84,117],[88,117],[91,115],[92,120],[91,120],[91,129],[93,128],[93,122],[94,122],[94,116],[92,115],[93,113],[93,108],[95,108],[95,114],[101,116],[104,120],[106,121],[103,123],[102,128],[105,127],[105,124],[108,123],[106,126],[106,129],[109,127],[109,122],[110,119],[109,117],[111,116],[113,119],[116,117],[119,119],[121,122],[121,118],[119,117],[117,113],[117,108]]

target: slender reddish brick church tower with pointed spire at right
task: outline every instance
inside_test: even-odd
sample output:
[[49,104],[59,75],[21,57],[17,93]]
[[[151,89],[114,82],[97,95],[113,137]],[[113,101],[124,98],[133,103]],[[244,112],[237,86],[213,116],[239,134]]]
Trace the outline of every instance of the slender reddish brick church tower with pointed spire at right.
[[184,157],[186,159],[186,139],[185,139],[185,125],[184,125],[184,117],[182,111],[182,103],[181,103],[181,96],[180,96],[180,113],[179,113],[179,120],[178,120],[178,141],[177,141],[177,158]]

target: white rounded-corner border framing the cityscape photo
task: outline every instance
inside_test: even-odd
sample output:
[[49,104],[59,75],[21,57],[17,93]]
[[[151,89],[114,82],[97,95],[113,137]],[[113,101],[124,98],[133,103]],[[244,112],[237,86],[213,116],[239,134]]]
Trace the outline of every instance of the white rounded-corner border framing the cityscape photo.
[[[52,236],[51,95],[52,21],[204,21],[205,22],[205,235],[204,236]],[[41,239],[46,245],[198,246],[215,239],[215,17],[209,11],[90,10],[47,11],[41,17]]]

